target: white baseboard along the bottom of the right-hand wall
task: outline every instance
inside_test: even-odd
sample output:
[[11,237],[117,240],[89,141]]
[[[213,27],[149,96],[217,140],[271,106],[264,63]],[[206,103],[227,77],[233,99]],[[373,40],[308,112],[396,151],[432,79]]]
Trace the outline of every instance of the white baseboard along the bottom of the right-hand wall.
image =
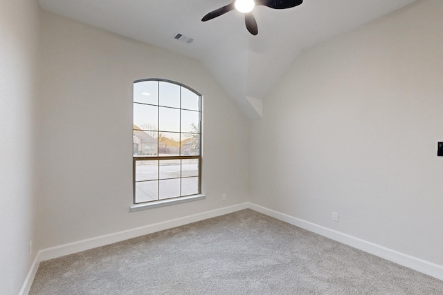
[[322,227],[312,222],[295,218],[293,216],[267,209],[256,204],[249,203],[248,208],[263,213],[267,216],[271,216],[278,220],[282,220],[291,225],[296,225],[297,227],[301,227],[302,229],[312,231],[316,234],[319,234],[320,236],[325,236],[332,240],[336,240],[337,242],[342,242],[345,245],[360,249],[375,256],[379,256],[386,260],[392,261],[393,263],[397,263],[399,265],[403,265],[404,267],[414,269],[417,272],[422,272],[423,274],[427,274],[428,276],[433,276],[434,278],[443,280],[442,265],[437,265],[435,263],[431,263],[420,258],[403,254],[398,251],[383,247],[381,245],[374,244],[373,242],[368,242],[367,240],[362,240],[361,238],[356,238],[354,236],[343,234],[340,231],[334,231],[333,229],[328,229],[327,227]]

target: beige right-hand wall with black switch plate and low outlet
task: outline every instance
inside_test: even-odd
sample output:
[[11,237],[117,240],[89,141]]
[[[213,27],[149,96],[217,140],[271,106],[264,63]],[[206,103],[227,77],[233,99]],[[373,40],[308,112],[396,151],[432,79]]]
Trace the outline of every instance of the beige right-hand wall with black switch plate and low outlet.
[[419,1],[303,53],[251,122],[251,201],[443,265],[442,15]]

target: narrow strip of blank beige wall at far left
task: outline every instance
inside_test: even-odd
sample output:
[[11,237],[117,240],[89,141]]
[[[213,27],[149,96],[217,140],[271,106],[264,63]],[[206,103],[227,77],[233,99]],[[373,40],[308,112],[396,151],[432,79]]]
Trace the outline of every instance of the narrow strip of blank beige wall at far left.
[[1,1],[0,19],[0,294],[18,294],[35,256],[37,1]]

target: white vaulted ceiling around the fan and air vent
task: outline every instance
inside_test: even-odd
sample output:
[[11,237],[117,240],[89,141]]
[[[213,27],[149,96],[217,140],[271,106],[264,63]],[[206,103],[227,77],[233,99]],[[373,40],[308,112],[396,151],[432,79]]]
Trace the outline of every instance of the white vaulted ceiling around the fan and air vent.
[[[273,10],[257,6],[258,35],[236,10],[202,22],[231,0],[39,0],[44,10],[199,59],[251,119],[261,101],[303,50],[415,0],[305,0]],[[195,39],[174,39],[181,33]]]

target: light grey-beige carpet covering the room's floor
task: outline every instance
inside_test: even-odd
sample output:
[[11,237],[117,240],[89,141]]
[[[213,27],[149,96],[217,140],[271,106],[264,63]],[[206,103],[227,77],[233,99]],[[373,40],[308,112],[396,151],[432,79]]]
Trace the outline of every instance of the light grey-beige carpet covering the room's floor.
[[31,295],[443,294],[443,281],[250,209],[40,264]]

